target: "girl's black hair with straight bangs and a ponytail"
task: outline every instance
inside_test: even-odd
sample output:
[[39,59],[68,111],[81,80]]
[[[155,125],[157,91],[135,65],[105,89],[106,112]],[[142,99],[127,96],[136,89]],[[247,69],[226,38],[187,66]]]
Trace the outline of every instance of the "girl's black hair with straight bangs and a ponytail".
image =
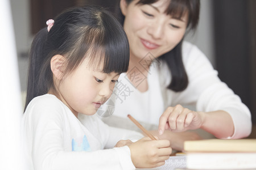
[[97,6],[70,8],[32,42],[24,110],[34,97],[47,94],[49,88],[56,90],[50,65],[56,54],[65,57],[64,74],[74,71],[85,57],[94,69],[104,62],[103,73],[124,73],[130,57],[126,33],[110,12]]

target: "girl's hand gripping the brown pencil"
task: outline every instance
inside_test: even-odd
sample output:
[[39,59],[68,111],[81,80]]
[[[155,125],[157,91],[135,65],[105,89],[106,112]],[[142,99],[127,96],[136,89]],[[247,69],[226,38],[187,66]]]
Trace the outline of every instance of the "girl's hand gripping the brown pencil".
[[164,165],[164,161],[169,159],[172,153],[170,141],[152,141],[148,137],[132,143],[129,148],[131,160],[136,168],[154,168]]

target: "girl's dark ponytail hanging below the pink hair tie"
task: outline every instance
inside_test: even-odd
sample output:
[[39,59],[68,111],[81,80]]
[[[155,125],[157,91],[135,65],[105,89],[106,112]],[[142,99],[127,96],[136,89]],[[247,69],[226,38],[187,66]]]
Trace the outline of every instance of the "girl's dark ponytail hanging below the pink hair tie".
[[46,42],[48,31],[41,29],[35,36],[30,49],[30,63],[28,65],[27,97],[24,111],[28,103],[41,93],[38,88],[39,74],[44,59],[44,44]]

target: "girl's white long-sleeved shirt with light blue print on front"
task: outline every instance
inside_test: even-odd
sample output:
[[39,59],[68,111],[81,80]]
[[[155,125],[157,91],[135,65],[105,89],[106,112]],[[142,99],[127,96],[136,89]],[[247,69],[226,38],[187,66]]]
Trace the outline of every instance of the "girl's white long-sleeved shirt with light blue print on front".
[[137,141],[136,131],[111,128],[94,114],[79,117],[56,96],[35,97],[22,120],[23,147],[30,169],[135,169],[121,139]]

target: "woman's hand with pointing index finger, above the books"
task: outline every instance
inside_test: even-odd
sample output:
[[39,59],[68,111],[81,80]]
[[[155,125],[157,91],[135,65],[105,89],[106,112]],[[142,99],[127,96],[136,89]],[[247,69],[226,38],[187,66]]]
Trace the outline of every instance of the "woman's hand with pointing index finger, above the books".
[[204,113],[191,111],[181,105],[168,107],[159,119],[158,131],[162,135],[164,130],[185,131],[189,129],[199,129],[204,122]]

